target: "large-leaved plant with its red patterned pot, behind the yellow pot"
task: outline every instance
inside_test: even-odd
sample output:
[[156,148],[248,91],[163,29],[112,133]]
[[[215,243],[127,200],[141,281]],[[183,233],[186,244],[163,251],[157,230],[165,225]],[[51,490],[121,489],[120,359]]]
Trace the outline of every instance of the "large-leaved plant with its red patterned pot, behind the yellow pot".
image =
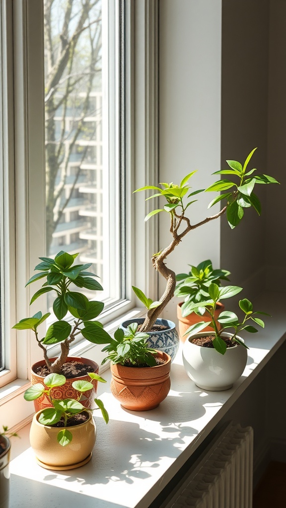
[[[61,251],[54,259],[40,258],[41,262],[35,267],[35,270],[40,271],[40,273],[33,275],[26,283],[26,285],[29,285],[40,279],[44,281],[41,289],[33,295],[30,305],[45,293],[53,292],[56,294],[52,308],[57,320],[48,327],[45,336],[43,338],[39,337],[38,328],[47,320],[50,312],[42,315],[42,312],[39,311],[32,317],[22,319],[13,327],[16,330],[32,330],[43,352],[44,360],[32,365],[32,384],[43,384],[48,373],[63,374],[67,378],[67,382],[62,390],[65,389],[73,397],[76,395],[75,392],[73,393],[73,380],[75,378],[87,380],[89,372],[98,372],[97,363],[87,358],[68,356],[70,345],[76,335],[81,333],[90,342],[94,342],[96,336],[104,338],[106,342],[110,339],[108,333],[103,330],[101,323],[94,321],[102,312],[104,304],[98,301],[89,301],[83,293],[71,290],[71,284],[77,288],[92,291],[102,291],[103,289],[100,283],[95,280],[96,275],[88,271],[91,263],[74,264],[77,256],[78,254],[70,255]],[[68,312],[75,318],[72,324],[64,320]],[[56,343],[61,344],[61,354],[58,358],[49,358],[47,346]],[[84,394],[81,400],[88,407],[92,407],[96,395],[97,379],[94,378],[92,383],[93,389]],[[35,401],[35,409],[39,410],[48,405],[50,405],[50,402],[43,392],[42,396]]]

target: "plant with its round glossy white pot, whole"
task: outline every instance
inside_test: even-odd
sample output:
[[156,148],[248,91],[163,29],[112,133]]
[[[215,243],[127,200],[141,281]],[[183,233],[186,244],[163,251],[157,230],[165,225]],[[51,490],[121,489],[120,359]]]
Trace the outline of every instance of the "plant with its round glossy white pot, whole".
[[[243,312],[240,320],[233,311],[220,313],[218,329],[215,320],[215,308],[219,300],[231,298],[242,291],[238,286],[224,286],[219,288],[211,283],[208,296],[204,301],[193,303],[190,308],[199,316],[205,312],[209,316],[212,332],[201,332],[206,326],[205,321],[192,325],[187,331],[187,340],[183,346],[183,362],[188,376],[196,386],[204,390],[227,390],[241,376],[247,362],[247,346],[238,335],[240,332],[256,333],[258,330],[250,323],[264,328],[264,322],[258,317],[266,312],[253,311],[252,303],[244,298],[239,300],[239,307]],[[225,330],[232,329],[232,333]]]

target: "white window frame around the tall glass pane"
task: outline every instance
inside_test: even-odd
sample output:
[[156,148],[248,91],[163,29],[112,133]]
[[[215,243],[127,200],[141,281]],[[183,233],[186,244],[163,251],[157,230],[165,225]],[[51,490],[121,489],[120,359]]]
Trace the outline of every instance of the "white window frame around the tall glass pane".
[[[157,298],[157,278],[151,255],[158,250],[157,221],[145,225],[150,201],[135,188],[157,183],[158,174],[158,3],[159,0],[126,0],[125,22],[125,207],[126,207],[126,299],[100,316],[107,330],[122,321],[136,302],[131,284]],[[9,1],[7,0],[7,4]],[[30,315],[30,287],[24,288],[33,273],[44,246],[44,62],[42,25],[43,5],[39,0],[13,3],[14,24],[14,111],[15,111],[15,202],[16,202],[16,315],[11,325]],[[136,62],[136,65],[135,65]],[[11,138],[12,139],[12,138]],[[39,189],[42,189],[39,191]],[[154,204],[154,203],[153,203]],[[24,211],[24,213],[23,213]],[[33,234],[26,234],[26,232]],[[35,291],[35,290],[34,290]],[[44,308],[44,297],[38,300]],[[134,310],[135,309],[135,310]],[[113,323],[113,324],[112,324]],[[8,333],[8,331],[6,331]],[[0,406],[7,408],[10,427],[31,418],[31,405],[23,400],[30,366],[42,355],[35,338],[17,334],[17,375],[11,385],[0,390]],[[10,334],[11,335],[11,334]],[[82,340],[77,355],[101,361],[101,346]],[[14,356],[13,356],[14,358]],[[17,408],[17,409],[16,409]],[[2,411],[0,411],[1,413]],[[0,421],[0,424],[2,422]]]

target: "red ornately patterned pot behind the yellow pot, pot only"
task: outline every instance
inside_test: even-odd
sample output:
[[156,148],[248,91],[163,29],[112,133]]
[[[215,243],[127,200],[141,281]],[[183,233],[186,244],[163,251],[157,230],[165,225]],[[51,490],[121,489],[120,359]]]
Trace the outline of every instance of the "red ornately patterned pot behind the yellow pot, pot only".
[[[51,361],[54,361],[55,358],[51,358]],[[98,364],[93,362],[92,360],[89,360],[87,358],[78,358],[78,357],[68,357],[67,362],[76,361],[80,363],[86,363],[93,367],[95,373],[98,374]],[[40,362],[34,363],[31,368],[31,383],[32,385],[36,385],[37,383],[42,383],[44,385],[44,376],[40,376],[36,374],[35,369],[39,366],[45,365],[46,362],[44,360],[41,360]],[[84,407],[88,407],[89,409],[93,409],[95,407],[94,399],[96,396],[96,390],[97,390],[97,381],[95,379],[91,379],[90,376],[84,375],[84,376],[78,376],[78,377],[72,377],[70,379],[67,379],[66,383],[63,386],[59,386],[56,388],[53,388],[51,390],[51,396],[56,399],[76,399],[78,392],[72,387],[72,383],[75,380],[84,379],[85,381],[89,381],[93,384],[94,388],[93,390],[89,390],[88,392],[84,392],[81,395],[80,402]],[[51,403],[47,399],[46,395],[43,394],[41,397],[39,397],[37,400],[34,400],[35,410],[39,411],[40,409],[45,409],[45,407],[50,407]]]

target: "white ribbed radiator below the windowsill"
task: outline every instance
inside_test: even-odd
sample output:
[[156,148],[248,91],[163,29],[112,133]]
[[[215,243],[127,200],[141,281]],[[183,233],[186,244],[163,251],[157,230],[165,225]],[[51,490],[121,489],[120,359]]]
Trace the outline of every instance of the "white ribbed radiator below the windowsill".
[[251,508],[253,429],[228,425],[166,508]]

